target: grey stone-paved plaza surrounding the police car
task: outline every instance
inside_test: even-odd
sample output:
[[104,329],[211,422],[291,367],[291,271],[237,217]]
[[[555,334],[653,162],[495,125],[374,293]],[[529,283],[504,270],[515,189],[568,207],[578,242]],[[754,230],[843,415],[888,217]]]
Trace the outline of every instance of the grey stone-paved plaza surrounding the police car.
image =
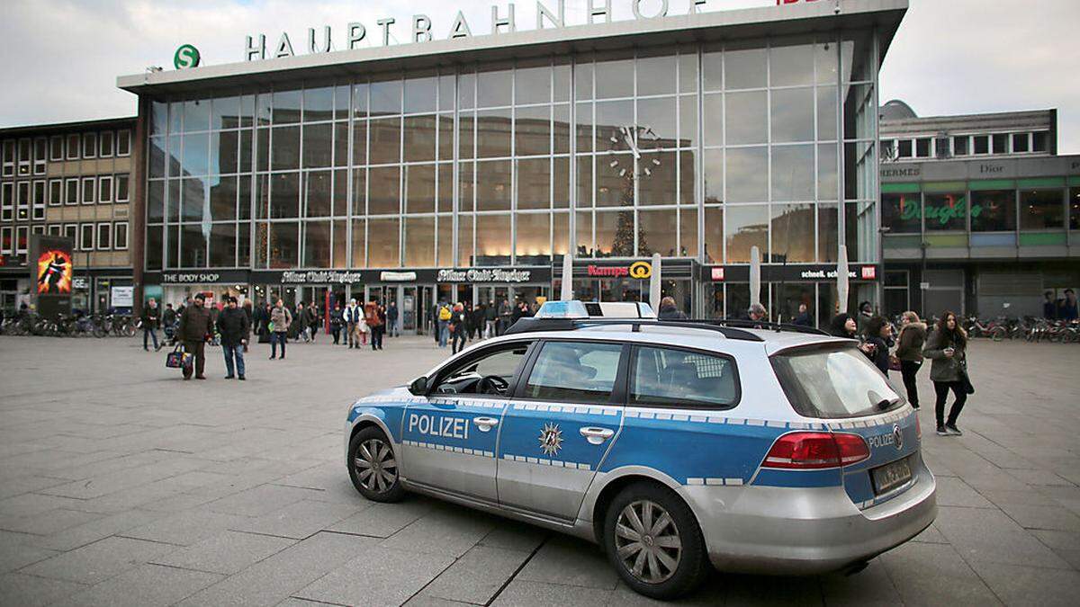
[[[357,396],[449,354],[289,345],[248,381],[181,381],[136,339],[0,337],[0,604],[620,605],[592,544],[426,498],[364,500],[342,461]],[[716,574],[684,603],[1075,605],[1080,347],[972,346],[962,437],[923,453],[937,521],[862,574]],[[899,382],[899,377],[896,378]]]

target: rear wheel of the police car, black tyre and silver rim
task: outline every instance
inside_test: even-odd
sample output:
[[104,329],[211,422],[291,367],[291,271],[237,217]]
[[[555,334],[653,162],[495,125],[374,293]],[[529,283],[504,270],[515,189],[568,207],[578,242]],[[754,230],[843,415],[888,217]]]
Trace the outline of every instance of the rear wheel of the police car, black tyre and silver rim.
[[652,483],[635,483],[616,496],[605,516],[604,544],[623,581],[652,598],[693,591],[708,567],[693,512]]

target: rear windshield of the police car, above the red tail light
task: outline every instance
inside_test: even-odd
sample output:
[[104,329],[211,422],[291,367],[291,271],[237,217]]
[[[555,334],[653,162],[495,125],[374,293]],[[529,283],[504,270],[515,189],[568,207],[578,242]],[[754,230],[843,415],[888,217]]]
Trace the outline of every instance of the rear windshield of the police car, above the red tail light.
[[860,417],[904,403],[854,346],[786,350],[772,356],[772,368],[792,406],[806,417]]

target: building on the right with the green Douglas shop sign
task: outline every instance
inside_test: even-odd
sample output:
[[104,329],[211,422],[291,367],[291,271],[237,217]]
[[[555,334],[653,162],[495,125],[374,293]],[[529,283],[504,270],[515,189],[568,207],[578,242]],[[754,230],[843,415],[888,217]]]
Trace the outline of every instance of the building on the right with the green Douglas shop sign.
[[885,310],[1024,316],[1080,291],[1080,156],[1056,110],[881,109]]

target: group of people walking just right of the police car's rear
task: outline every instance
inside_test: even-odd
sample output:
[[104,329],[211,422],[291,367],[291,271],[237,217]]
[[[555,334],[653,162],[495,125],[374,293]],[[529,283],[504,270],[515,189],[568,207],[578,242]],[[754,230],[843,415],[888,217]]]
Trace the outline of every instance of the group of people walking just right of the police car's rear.
[[[829,323],[829,333],[837,337],[860,340],[862,352],[889,375],[900,370],[907,391],[907,401],[919,408],[919,390],[916,376],[926,359],[930,360],[930,380],[934,383],[934,417],[937,434],[960,436],[957,419],[968,395],[975,389],[968,375],[968,334],[957,321],[956,313],[946,311],[931,331],[919,315],[910,310],[901,315],[899,335],[893,335],[893,325],[888,319],[875,315],[868,301],[859,306],[854,316],[840,313]],[[890,349],[895,351],[890,353]],[[953,392],[953,406],[945,417],[945,404]]]

